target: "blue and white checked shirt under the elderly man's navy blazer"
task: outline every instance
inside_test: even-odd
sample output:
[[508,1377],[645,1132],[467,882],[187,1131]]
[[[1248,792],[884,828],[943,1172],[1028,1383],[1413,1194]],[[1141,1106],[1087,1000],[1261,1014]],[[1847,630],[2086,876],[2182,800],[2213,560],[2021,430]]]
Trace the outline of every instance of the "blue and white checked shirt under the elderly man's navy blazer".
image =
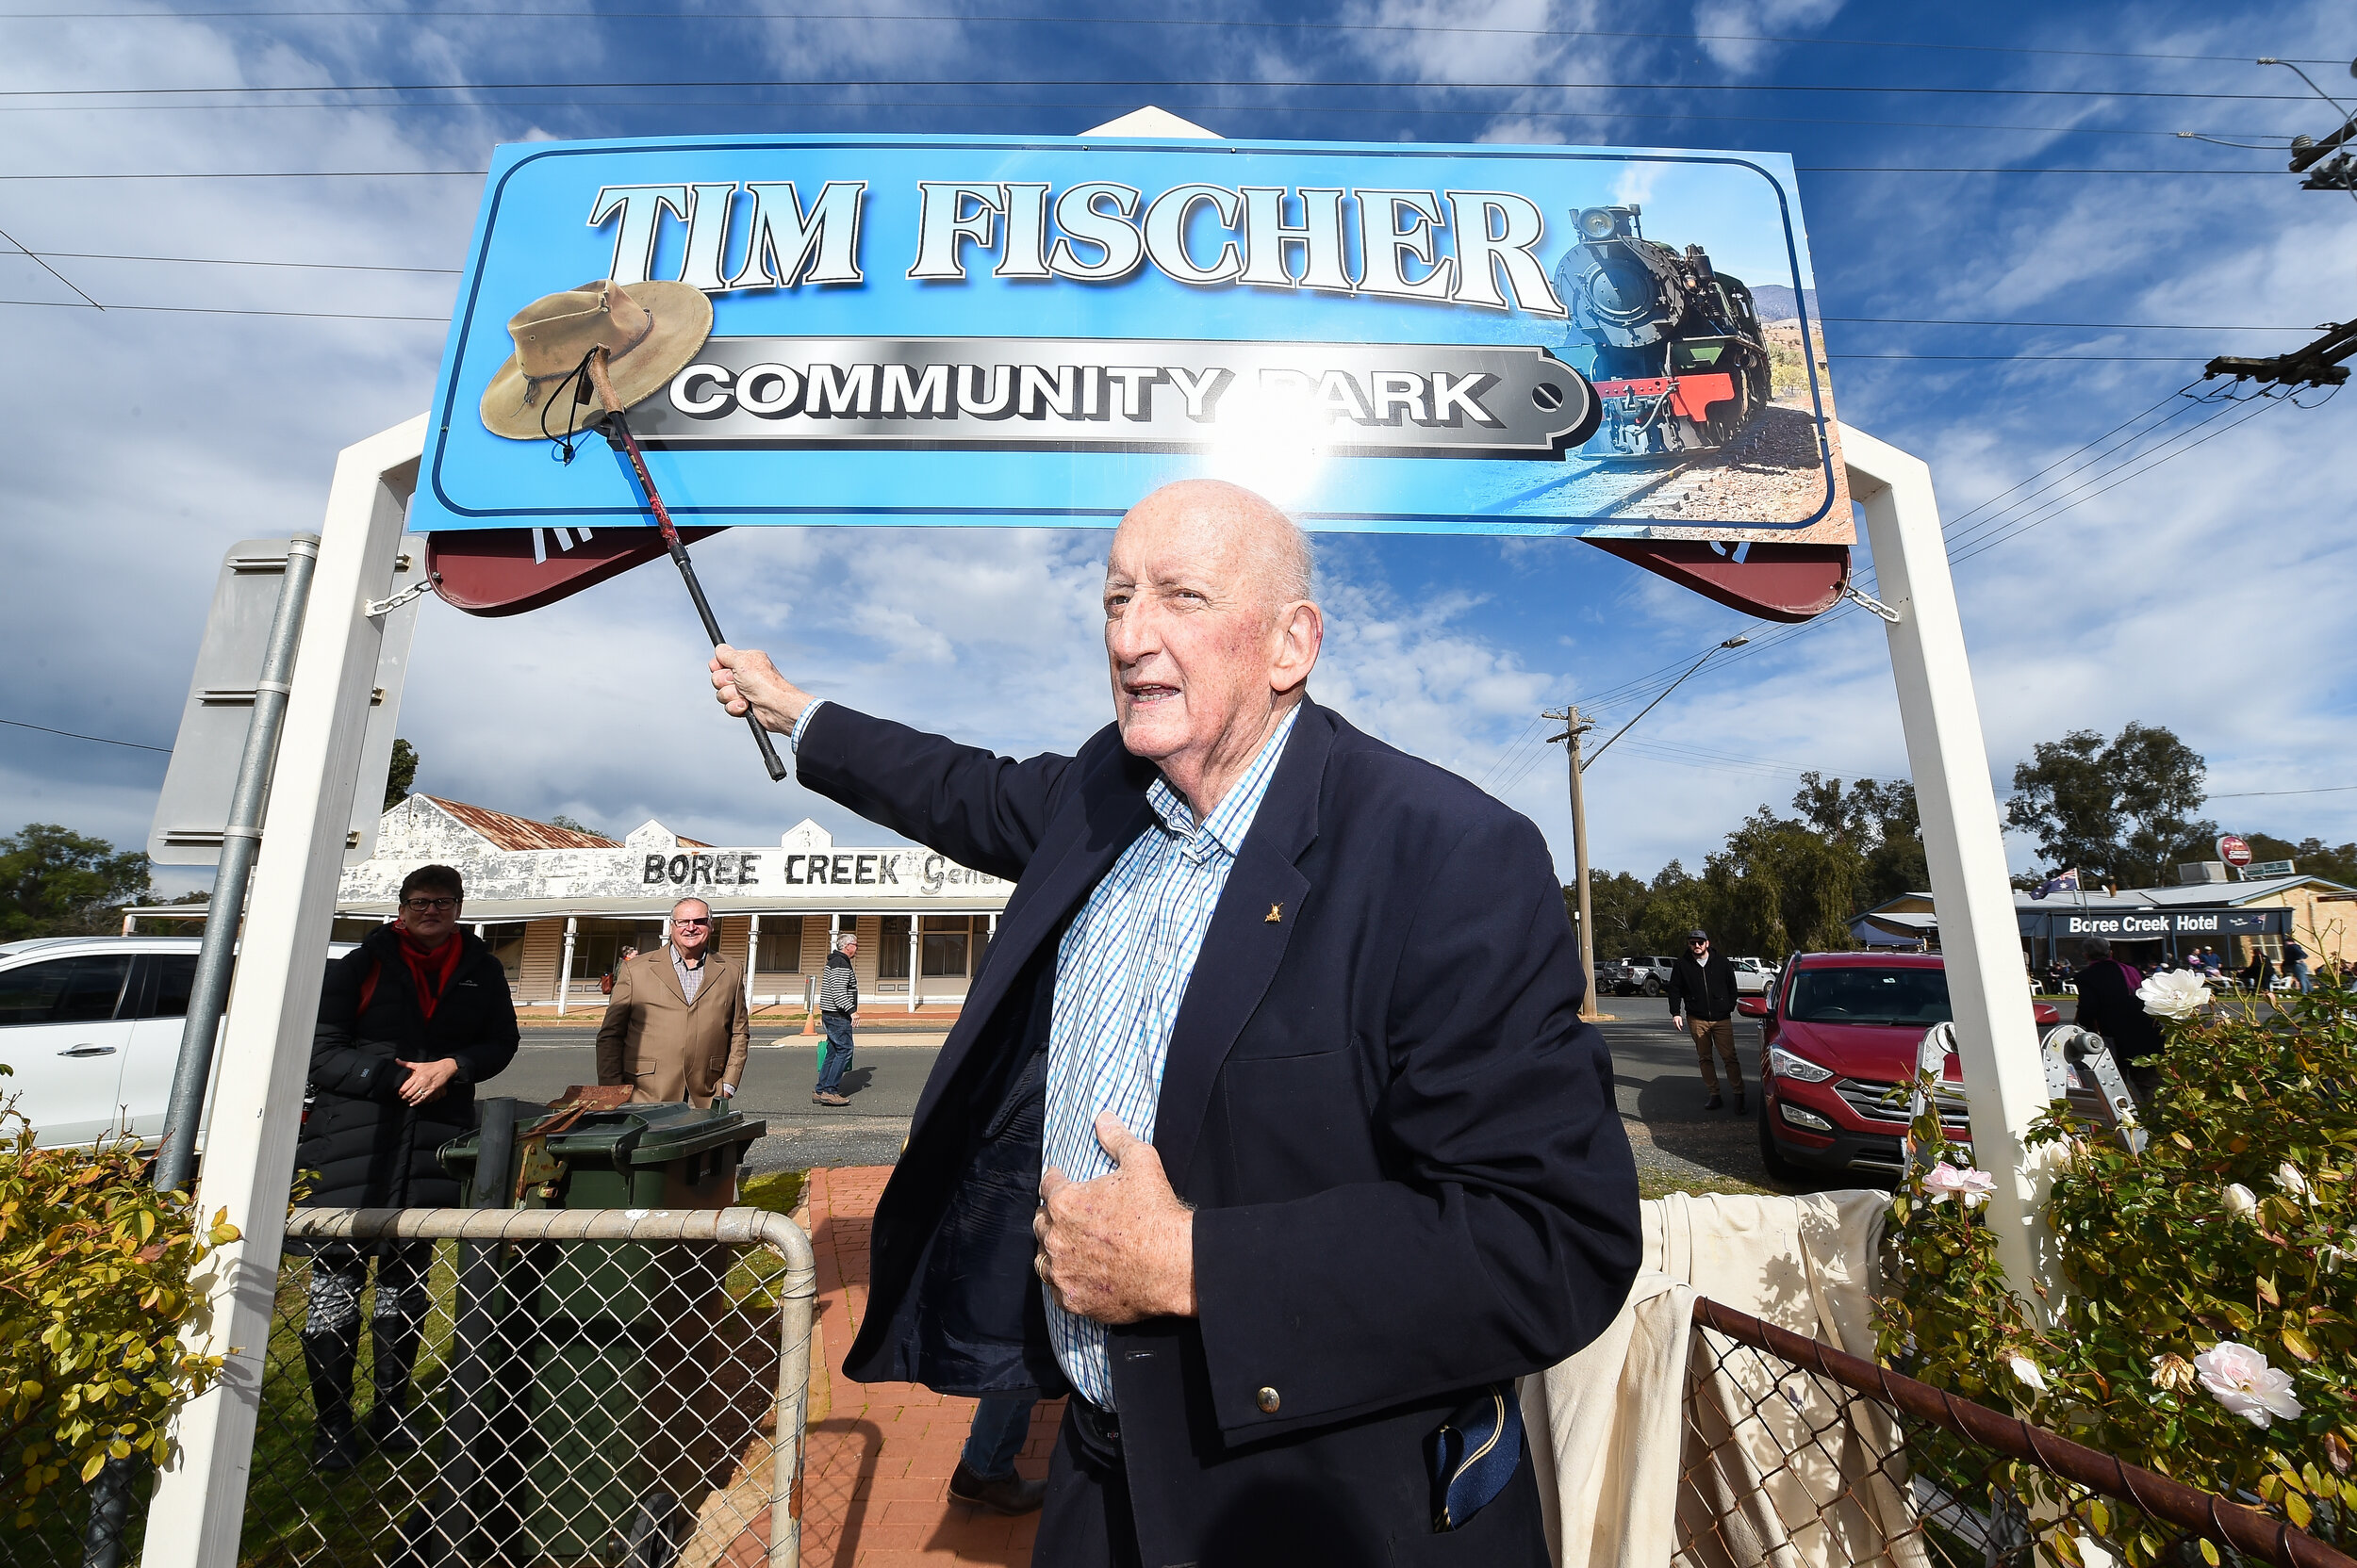
[[[1155,826],[1122,850],[1063,935],[1056,949],[1056,1015],[1047,1036],[1042,1168],[1054,1165],[1075,1182],[1108,1175],[1113,1156],[1096,1142],[1098,1111],[1113,1111],[1124,1128],[1153,1142],[1178,1003],[1299,713],[1296,706],[1285,716],[1244,777],[1200,824],[1186,798],[1155,779],[1146,791]],[[1047,1333],[1072,1387],[1110,1410],[1105,1326],[1049,1300]]]

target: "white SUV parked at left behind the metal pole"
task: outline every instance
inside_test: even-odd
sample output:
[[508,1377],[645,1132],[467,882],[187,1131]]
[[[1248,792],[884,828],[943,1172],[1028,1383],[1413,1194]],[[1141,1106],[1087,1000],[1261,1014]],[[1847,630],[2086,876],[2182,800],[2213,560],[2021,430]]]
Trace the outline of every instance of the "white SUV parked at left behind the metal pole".
[[[337,942],[328,956],[351,946]],[[0,1099],[16,1097],[40,1144],[163,1137],[196,949],[196,937],[47,937],[0,949],[0,1062],[14,1069],[0,1078]]]

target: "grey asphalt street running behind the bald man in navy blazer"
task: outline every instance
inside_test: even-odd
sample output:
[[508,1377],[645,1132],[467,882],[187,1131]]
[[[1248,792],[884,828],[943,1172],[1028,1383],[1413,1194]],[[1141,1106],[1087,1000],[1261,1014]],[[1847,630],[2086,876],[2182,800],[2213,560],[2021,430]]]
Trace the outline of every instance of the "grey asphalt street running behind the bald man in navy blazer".
[[[1645,1191],[1772,1187],[1758,1158],[1758,1099],[1754,1114],[1704,1111],[1695,1045],[1671,1031],[1659,1003],[1624,998],[1619,1019],[1603,1024],[1612,1048],[1612,1083],[1638,1151]],[[1758,1059],[1758,1024],[1737,1019],[1737,1041],[1749,1078]],[[568,1085],[596,1083],[594,1029],[528,1029],[516,1064],[493,1083],[497,1092],[528,1102],[556,1099]],[[775,1043],[771,1043],[775,1041]],[[768,1123],[768,1137],[752,1147],[754,1170],[806,1165],[889,1165],[907,1137],[940,1036],[865,1034],[844,1076],[851,1107],[811,1104],[818,1081],[813,1041],[797,1034],[757,1031],[754,1052],[738,1092],[738,1109]]]

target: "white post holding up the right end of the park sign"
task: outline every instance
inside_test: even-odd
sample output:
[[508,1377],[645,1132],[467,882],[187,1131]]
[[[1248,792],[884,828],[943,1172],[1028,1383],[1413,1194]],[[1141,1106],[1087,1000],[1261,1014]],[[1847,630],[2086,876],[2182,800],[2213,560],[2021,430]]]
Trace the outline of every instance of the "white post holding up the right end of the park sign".
[[2051,1175],[2022,1149],[2046,1109],[2039,1024],[2022,984],[2022,937],[2006,878],[2006,843],[1989,786],[1989,746],[1963,657],[1956,582],[1947,572],[1940,504],[1919,457],[1841,426],[1850,494],[1867,509],[1874,574],[1888,622],[1890,673],[1900,687],[1907,770],[1923,812],[1923,859],[1947,956],[1963,1092],[1973,1104],[1973,1158],[1996,1172],[1989,1229],[1996,1260],[2032,1318],[2044,1316],[2032,1283],[2060,1281],[2044,1229]]

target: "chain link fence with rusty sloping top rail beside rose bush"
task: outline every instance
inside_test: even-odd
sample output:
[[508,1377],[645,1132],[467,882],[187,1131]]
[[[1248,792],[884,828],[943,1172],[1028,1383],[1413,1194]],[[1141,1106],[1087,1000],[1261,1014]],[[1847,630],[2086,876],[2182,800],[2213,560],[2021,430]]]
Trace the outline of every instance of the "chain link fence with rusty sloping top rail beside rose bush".
[[2258,1509],[1695,1302],[1681,1568],[2098,1568],[2131,1540],[2185,1568],[2357,1568]]

